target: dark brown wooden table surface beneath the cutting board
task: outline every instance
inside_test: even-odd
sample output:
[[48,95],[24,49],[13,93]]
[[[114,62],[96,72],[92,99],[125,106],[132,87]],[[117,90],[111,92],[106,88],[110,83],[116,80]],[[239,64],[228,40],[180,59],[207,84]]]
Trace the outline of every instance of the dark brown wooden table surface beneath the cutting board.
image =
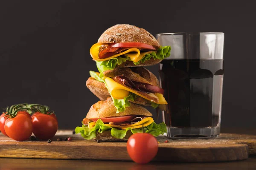
[[[224,133],[256,134],[256,130],[248,129],[224,129]],[[96,151],[97,152],[97,151]],[[98,151],[99,152],[99,151]],[[131,161],[91,161],[91,160],[63,160],[63,159],[14,159],[0,158],[0,170],[38,169],[38,170],[155,170],[155,169],[256,169],[256,156],[250,156],[247,160],[216,162],[216,163],[177,163],[177,162],[151,162],[140,165]]]

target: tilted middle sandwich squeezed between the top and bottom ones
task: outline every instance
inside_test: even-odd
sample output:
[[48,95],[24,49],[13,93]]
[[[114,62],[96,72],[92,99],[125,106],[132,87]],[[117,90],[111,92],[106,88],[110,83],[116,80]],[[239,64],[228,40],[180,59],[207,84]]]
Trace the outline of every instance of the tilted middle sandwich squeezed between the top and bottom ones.
[[154,108],[167,104],[157,77],[144,67],[114,68],[102,74],[90,71],[86,86],[100,100],[111,97],[116,113],[125,111],[130,102]]

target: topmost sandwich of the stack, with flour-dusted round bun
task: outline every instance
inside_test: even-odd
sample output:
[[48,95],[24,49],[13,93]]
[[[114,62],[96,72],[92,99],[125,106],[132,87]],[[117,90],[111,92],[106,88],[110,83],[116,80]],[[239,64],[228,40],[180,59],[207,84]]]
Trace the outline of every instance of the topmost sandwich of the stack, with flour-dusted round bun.
[[102,72],[115,67],[149,66],[169,57],[170,46],[160,46],[143,28],[119,24],[108,28],[90,48],[90,55]]

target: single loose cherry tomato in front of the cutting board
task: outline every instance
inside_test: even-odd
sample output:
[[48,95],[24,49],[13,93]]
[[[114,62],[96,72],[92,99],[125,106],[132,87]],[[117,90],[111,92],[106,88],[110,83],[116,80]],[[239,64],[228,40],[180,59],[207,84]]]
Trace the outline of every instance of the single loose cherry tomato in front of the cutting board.
[[157,155],[157,139],[149,133],[135,133],[127,141],[127,151],[136,163],[147,164]]

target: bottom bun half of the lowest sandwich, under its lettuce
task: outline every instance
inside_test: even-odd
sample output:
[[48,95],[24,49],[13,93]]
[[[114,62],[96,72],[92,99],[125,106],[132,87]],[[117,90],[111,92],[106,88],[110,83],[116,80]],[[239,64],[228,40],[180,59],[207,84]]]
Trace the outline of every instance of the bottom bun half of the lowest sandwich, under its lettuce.
[[131,130],[128,130],[124,138],[117,139],[111,135],[111,130],[107,130],[102,133],[96,132],[96,137],[93,139],[108,142],[127,142],[127,140],[132,134],[133,133],[131,133]]

